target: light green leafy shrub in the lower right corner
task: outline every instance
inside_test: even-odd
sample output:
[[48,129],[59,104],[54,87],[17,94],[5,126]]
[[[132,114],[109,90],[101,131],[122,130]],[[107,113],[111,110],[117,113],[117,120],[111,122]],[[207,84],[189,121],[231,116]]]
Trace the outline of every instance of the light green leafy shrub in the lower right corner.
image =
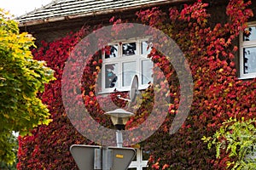
[[239,121],[236,118],[230,118],[223,124],[223,127],[220,127],[212,137],[203,138],[208,143],[208,148],[212,148],[212,145],[215,147],[217,158],[221,158],[224,152],[228,153],[230,158],[236,158],[227,162],[227,168],[255,168],[256,120],[245,121],[242,117]]

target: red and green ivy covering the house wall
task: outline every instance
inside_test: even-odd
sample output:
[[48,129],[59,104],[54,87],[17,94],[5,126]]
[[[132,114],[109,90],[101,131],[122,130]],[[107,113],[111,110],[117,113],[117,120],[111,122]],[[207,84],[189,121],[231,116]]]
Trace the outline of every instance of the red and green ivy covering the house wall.
[[[158,28],[177,42],[189,61],[194,79],[189,116],[177,133],[170,135],[169,127],[179,105],[177,75],[166,62],[166,57],[157,50],[153,48],[148,55],[165,73],[170,84],[168,95],[171,96],[166,121],[153,136],[140,143],[144,150],[150,151],[148,169],[225,169],[227,162],[236,161],[236,156],[230,157],[229,153],[220,150],[216,158],[216,150],[208,150],[202,138],[212,136],[230,117],[248,120],[256,116],[256,79],[239,80],[236,67],[237,38],[253,17],[253,6],[250,1],[227,1],[222,17],[225,20],[216,23],[216,19],[208,13],[214,8],[212,5],[198,1],[184,4],[183,8],[172,7],[167,12],[161,8],[148,8],[136,13],[137,22]],[[125,22],[115,17],[109,24],[122,21]],[[35,128],[31,136],[19,138],[18,169],[78,169],[69,147],[72,144],[93,144],[69,122],[61,101],[61,76],[65,61],[79,40],[90,33],[90,29],[82,28],[54,42],[42,42],[40,48],[32,51],[35,59],[45,60],[55,70],[56,80],[45,86],[43,94],[38,94],[44,104],[49,105],[53,121],[48,126]],[[84,68],[81,88],[84,93],[78,97],[84,99],[84,106],[97,122],[110,127],[110,120],[102,116],[96,101],[95,84],[101,65],[99,54],[90,59],[90,66]],[[148,88],[143,94],[144,106],[131,118],[126,128],[143,122],[150,114],[148,108],[152,102],[157,105],[158,100],[152,100],[151,90]],[[118,100],[116,94],[111,95],[114,101]],[[108,105],[108,101],[104,102]]]

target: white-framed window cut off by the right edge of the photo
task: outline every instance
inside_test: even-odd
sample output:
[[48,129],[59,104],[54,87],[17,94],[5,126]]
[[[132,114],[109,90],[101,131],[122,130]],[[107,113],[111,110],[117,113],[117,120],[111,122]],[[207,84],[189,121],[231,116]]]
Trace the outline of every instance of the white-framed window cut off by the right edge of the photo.
[[240,36],[240,77],[256,77],[256,23],[249,24]]

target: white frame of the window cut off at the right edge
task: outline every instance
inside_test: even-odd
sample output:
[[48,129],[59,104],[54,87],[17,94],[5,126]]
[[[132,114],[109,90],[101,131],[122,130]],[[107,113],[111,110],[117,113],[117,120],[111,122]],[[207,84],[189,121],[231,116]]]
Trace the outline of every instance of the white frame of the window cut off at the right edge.
[[[251,26],[256,26],[256,22],[251,22],[248,23],[248,27]],[[251,72],[251,73],[244,73],[244,57],[243,57],[243,48],[256,48],[256,40],[252,41],[243,41],[243,31],[240,32],[240,55],[239,55],[239,70],[240,70],[240,75],[239,79],[250,79],[250,78],[255,78],[256,77],[256,72]],[[256,65],[255,65],[256,67]]]

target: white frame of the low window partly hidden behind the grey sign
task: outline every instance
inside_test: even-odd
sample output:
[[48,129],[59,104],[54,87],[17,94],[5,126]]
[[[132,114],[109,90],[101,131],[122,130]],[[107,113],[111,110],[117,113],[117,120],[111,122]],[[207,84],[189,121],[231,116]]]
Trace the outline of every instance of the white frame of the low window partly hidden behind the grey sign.
[[137,170],[143,170],[143,167],[148,167],[148,161],[143,160],[143,149],[137,148],[136,150],[136,161],[131,161],[129,168],[137,168]]

